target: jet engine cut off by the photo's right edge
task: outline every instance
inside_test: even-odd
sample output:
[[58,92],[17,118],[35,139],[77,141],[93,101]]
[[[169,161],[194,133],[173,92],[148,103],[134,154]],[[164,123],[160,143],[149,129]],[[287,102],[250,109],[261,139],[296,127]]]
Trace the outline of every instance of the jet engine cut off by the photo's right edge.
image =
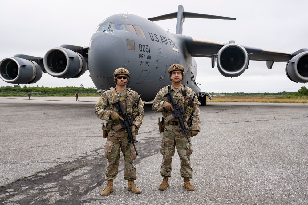
[[296,83],[308,82],[308,51],[291,58],[286,65],[286,75]]

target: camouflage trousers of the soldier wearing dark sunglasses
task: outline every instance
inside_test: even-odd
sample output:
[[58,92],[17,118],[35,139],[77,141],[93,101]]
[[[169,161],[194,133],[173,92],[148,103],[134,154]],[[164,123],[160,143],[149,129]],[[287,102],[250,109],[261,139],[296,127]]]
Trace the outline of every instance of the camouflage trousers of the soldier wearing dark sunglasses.
[[108,159],[108,165],[105,179],[110,180],[117,177],[121,150],[124,158],[124,179],[135,180],[136,166],[134,165],[134,160],[137,155],[132,143],[128,144],[126,130],[121,129],[117,132],[110,130],[109,136],[115,140],[121,141],[121,144],[116,144],[109,139],[106,140],[105,157]]

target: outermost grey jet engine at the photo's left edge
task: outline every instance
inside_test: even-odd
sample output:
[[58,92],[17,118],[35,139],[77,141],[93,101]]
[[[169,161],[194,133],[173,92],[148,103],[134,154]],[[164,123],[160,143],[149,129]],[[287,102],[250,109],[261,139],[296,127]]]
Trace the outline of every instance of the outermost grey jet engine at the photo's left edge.
[[36,83],[42,74],[42,68],[34,61],[7,57],[0,62],[0,77],[7,83]]

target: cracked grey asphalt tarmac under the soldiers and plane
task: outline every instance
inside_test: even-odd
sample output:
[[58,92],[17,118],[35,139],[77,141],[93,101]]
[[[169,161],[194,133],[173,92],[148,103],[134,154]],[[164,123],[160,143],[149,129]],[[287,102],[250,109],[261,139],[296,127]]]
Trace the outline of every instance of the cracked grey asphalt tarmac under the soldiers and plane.
[[189,192],[177,153],[169,187],[158,190],[161,114],[146,104],[135,160],[142,193],[126,190],[122,160],[115,191],[103,197],[106,139],[97,100],[0,98],[0,204],[308,204],[308,104],[200,107]]

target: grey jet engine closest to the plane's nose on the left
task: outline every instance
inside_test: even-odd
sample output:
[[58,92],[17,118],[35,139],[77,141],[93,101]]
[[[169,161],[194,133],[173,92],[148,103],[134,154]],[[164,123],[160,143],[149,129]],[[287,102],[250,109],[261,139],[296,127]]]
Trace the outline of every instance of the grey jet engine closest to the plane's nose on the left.
[[53,48],[44,56],[46,72],[59,78],[80,77],[87,70],[87,62],[82,55],[66,48]]

